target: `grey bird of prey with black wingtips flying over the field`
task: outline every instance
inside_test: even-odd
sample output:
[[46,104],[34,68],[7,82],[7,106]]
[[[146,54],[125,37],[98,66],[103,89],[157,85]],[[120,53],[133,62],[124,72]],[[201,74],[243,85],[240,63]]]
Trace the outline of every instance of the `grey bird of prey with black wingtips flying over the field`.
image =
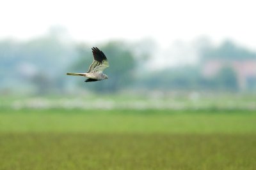
[[88,78],[85,80],[85,82],[108,79],[108,76],[106,74],[103,74],[104,69],[109,67],[106,55],[97,47],[92,48],[92,53],[93,62],[89,67],[87,73],[67,73],[67,75],[85,76]]

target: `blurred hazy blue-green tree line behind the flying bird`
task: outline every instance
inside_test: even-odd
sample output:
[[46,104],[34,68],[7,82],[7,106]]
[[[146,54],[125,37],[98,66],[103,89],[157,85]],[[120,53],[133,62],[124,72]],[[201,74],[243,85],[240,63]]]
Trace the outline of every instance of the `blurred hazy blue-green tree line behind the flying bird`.
[[[0,93],[65,94],[74,87],[100,93],[115,93],[125,89],[239,91],[234,70],[225,67],[214,77],[205,78],[200,64],[214,57],[224,57],[227,60],[256,58],[255,52],[237,47],[228,41],[218,48],[202,48],[198,53],[201,62],[195,66],[170,67],[158,71],[143,69],[141,74],[141,68],[145,68],[143,64],[150,60],[151,54],[147,48],[134,50],[131,43],[122,41],[109,41],[98,47],[108,57],[110,67],[106,69],[106,74],[109,79],[85,83],[85,78],[68,77],[65,73],[87,71],[93,61],[91,45],[67,43],[61,39],[61,35],[52,34],[30,41],[2,40]],[[254,85],[250,90],[256,90]]]

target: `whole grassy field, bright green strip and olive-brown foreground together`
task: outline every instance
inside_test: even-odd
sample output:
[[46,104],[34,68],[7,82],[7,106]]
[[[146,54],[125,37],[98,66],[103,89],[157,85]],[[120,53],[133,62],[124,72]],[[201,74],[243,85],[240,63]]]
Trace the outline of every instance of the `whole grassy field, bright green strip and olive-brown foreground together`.
[[256,111],[0,110],[0,169],[256,169]]

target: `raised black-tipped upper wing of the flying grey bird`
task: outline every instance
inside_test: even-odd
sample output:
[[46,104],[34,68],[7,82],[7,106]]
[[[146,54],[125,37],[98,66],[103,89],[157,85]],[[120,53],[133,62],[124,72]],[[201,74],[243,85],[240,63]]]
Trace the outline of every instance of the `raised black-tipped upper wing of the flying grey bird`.
[[89,67],[89,70],[87,71],[87,73],[92,73],[92,72],[102,73],[104,69],[109,67],[108,59],[106,55],[102,51],[100,51],[99,48],[97,47],[92,48],[92,53],[93,53],[93,62]]

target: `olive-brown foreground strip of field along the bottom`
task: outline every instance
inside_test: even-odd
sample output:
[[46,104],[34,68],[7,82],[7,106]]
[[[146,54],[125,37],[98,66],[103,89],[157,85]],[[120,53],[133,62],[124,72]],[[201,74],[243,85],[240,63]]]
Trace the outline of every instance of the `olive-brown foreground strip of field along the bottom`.
[[255,169],[252,135],[0,134],[0,169]]

